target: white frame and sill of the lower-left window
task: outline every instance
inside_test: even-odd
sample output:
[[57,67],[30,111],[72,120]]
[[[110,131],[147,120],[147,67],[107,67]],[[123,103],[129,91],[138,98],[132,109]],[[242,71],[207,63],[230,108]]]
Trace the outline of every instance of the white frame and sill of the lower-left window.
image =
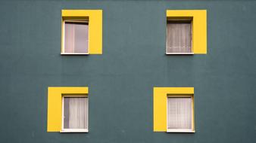
[[[86,129],[64,129],[64,98],[65,97],[85,97],[87,98],[87,126],[86,126]],[[88,125],[88,122],[89,122],[89,117],[88,117],[88,108],[89,108],[89,100],[88,100],[88,96],[84,95],[84,94],[77,94],[77,95],[63,95],[61,97],[62,99],[62,115],[61,115],[61,131],[60,132],[89,132],[89,125]]]

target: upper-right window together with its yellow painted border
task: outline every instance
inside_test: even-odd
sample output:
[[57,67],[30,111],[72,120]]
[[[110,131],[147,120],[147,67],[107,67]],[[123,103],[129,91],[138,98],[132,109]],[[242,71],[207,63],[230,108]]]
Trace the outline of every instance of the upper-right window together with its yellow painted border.
[[207,11],[167,10],[166,54],[207,53]]

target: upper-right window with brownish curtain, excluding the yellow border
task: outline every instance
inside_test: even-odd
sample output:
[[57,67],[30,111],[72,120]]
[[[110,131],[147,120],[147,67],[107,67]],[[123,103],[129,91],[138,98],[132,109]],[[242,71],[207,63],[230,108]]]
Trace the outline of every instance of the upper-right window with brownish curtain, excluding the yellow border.
[[189,20],[167,21],[167,53],[192,53],[192,29]]

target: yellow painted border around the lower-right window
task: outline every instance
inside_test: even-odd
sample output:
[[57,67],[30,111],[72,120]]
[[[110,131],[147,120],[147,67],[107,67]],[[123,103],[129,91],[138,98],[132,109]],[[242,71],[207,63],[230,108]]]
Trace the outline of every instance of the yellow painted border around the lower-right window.
[[[171,95],[194,95],[194,87],[154,87],[154,132],[167,131],[167,96]],[[195,130],[194,120],[194,96],[192,96],[192,129]]]

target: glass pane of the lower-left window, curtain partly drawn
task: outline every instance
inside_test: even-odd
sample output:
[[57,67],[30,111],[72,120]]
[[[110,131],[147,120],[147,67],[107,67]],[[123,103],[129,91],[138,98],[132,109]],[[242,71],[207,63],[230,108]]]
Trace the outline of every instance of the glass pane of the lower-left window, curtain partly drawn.
[[64,129],[87,129],[86,97],[64,97]]

